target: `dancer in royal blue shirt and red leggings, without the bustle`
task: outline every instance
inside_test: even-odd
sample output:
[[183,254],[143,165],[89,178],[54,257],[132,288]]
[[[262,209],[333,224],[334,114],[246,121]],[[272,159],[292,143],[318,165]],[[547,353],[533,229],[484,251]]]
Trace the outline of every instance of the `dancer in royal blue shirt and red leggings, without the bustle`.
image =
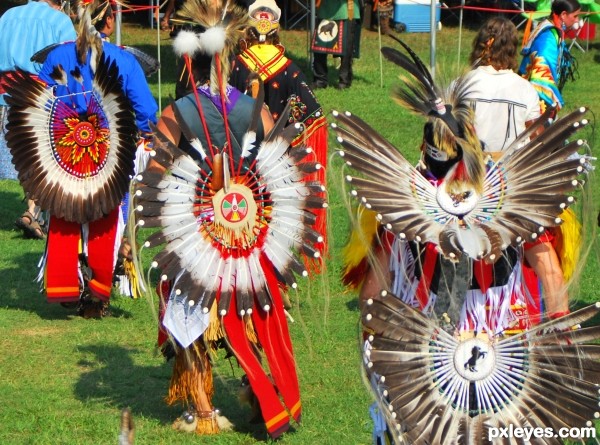
[[[119,69],[119,77],[121,79],[121,88],[124,95],[129,99],[131,107],[135,113],[135,122],[137,125],[137,140],[138,152],[147,151],[145,149],[152,140],[152,131],[150,123],[156,123],[156,112],[158,106],[150,88],[145,81],[144,72],[133,55],[125,50],[108,42],[108,37],[115,30],[115,16],[113,4],[107,0],[96,0],[89,6],[91,12],[92,23],[102,45],[103,56],[109,61],[117,65]],[[82,22],[83,23],[83,22]],[[88,95],[78,94],[76,92],[90,91],[92,89],[92,81],[95,77],[94,64],[94,46],[98,43],[92,43],[85,46],[79,44],[81,42],[94,41],[95,36],[86,35],[87,31],[82,29],[76,42],[66,43],[54,48],[47,56],[46,61],[40,71],[40,79],[54,86],[55,95],[61,97],[62,101],[76,108],[80,113],[85,114],[88,107]],[[97,42],[97,41],[95,41]],[[65,73],[68,73],[66,82],[57,78],[56,67],[62,67]],[[132,129],[135,131],[135,128]],[[140,156],[138,156],[140,159]],[[133,175],[133,171],[130,175]],[[113,209],[108,215],[105,215],[100,220],[91,221],[88,225],[90,228],[85,229],[92,231],[91,227],[96,225],[104,225],[107,229],[101,236],[106,237],[104,243],[110,246],[110,249],[100,249],[98,253],[92,252],[91,249],[84,250],[86,253],[84,259],[80,257],[86,265],[89,265],[91,270],[91,278],[85,279],[82,286],[81,294],[77,291],[64,295],[60,289],[66,286],[54,284],[50,286],[46,280],[46,293],[49,301],[73,302],[78,303],[79,314],[85,318],[98,318],[107,313],[108,301],[110,298],[110,289],[112,287],[113,271],[115,266],[115,257],[117,247],[121,244],[121,234],[123,232],[123,215],[119,208]],[[53,225],[55,225],[53,229]],[[58,266],[56,264],[59,258],[59,252],[55,251],[52,243],[53,232],[77,231],[77,228],[82,230],[82,239],[85,243],[85,230],[83,225],[77,222],[63,220],[62,218],[51,215],[50,217],[50,236],[46,252],[46,275],[50,275],[52,270]],[[114,248],[113,248],[114,247]],[[58,246],[59,250],[64,249],[64,246]],[[78,248],[78,246],[73,246]],[[74,286],[71,286],[74,288]]]

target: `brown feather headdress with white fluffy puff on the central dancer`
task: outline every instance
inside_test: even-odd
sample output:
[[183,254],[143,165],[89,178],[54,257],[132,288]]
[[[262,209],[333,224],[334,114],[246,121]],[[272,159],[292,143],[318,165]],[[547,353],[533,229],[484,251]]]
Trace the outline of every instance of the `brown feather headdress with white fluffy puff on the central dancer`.
[[218,55],[213,57],[210,79],[211,92],[218,94],[219,85],[227,85],[231,56],[248,25],[247,11],[229,0],[187,0],[177,14],[204,28],[202,33],[193,33],[196,44],[188,42],[186,47],[195,47],[208,56]]

